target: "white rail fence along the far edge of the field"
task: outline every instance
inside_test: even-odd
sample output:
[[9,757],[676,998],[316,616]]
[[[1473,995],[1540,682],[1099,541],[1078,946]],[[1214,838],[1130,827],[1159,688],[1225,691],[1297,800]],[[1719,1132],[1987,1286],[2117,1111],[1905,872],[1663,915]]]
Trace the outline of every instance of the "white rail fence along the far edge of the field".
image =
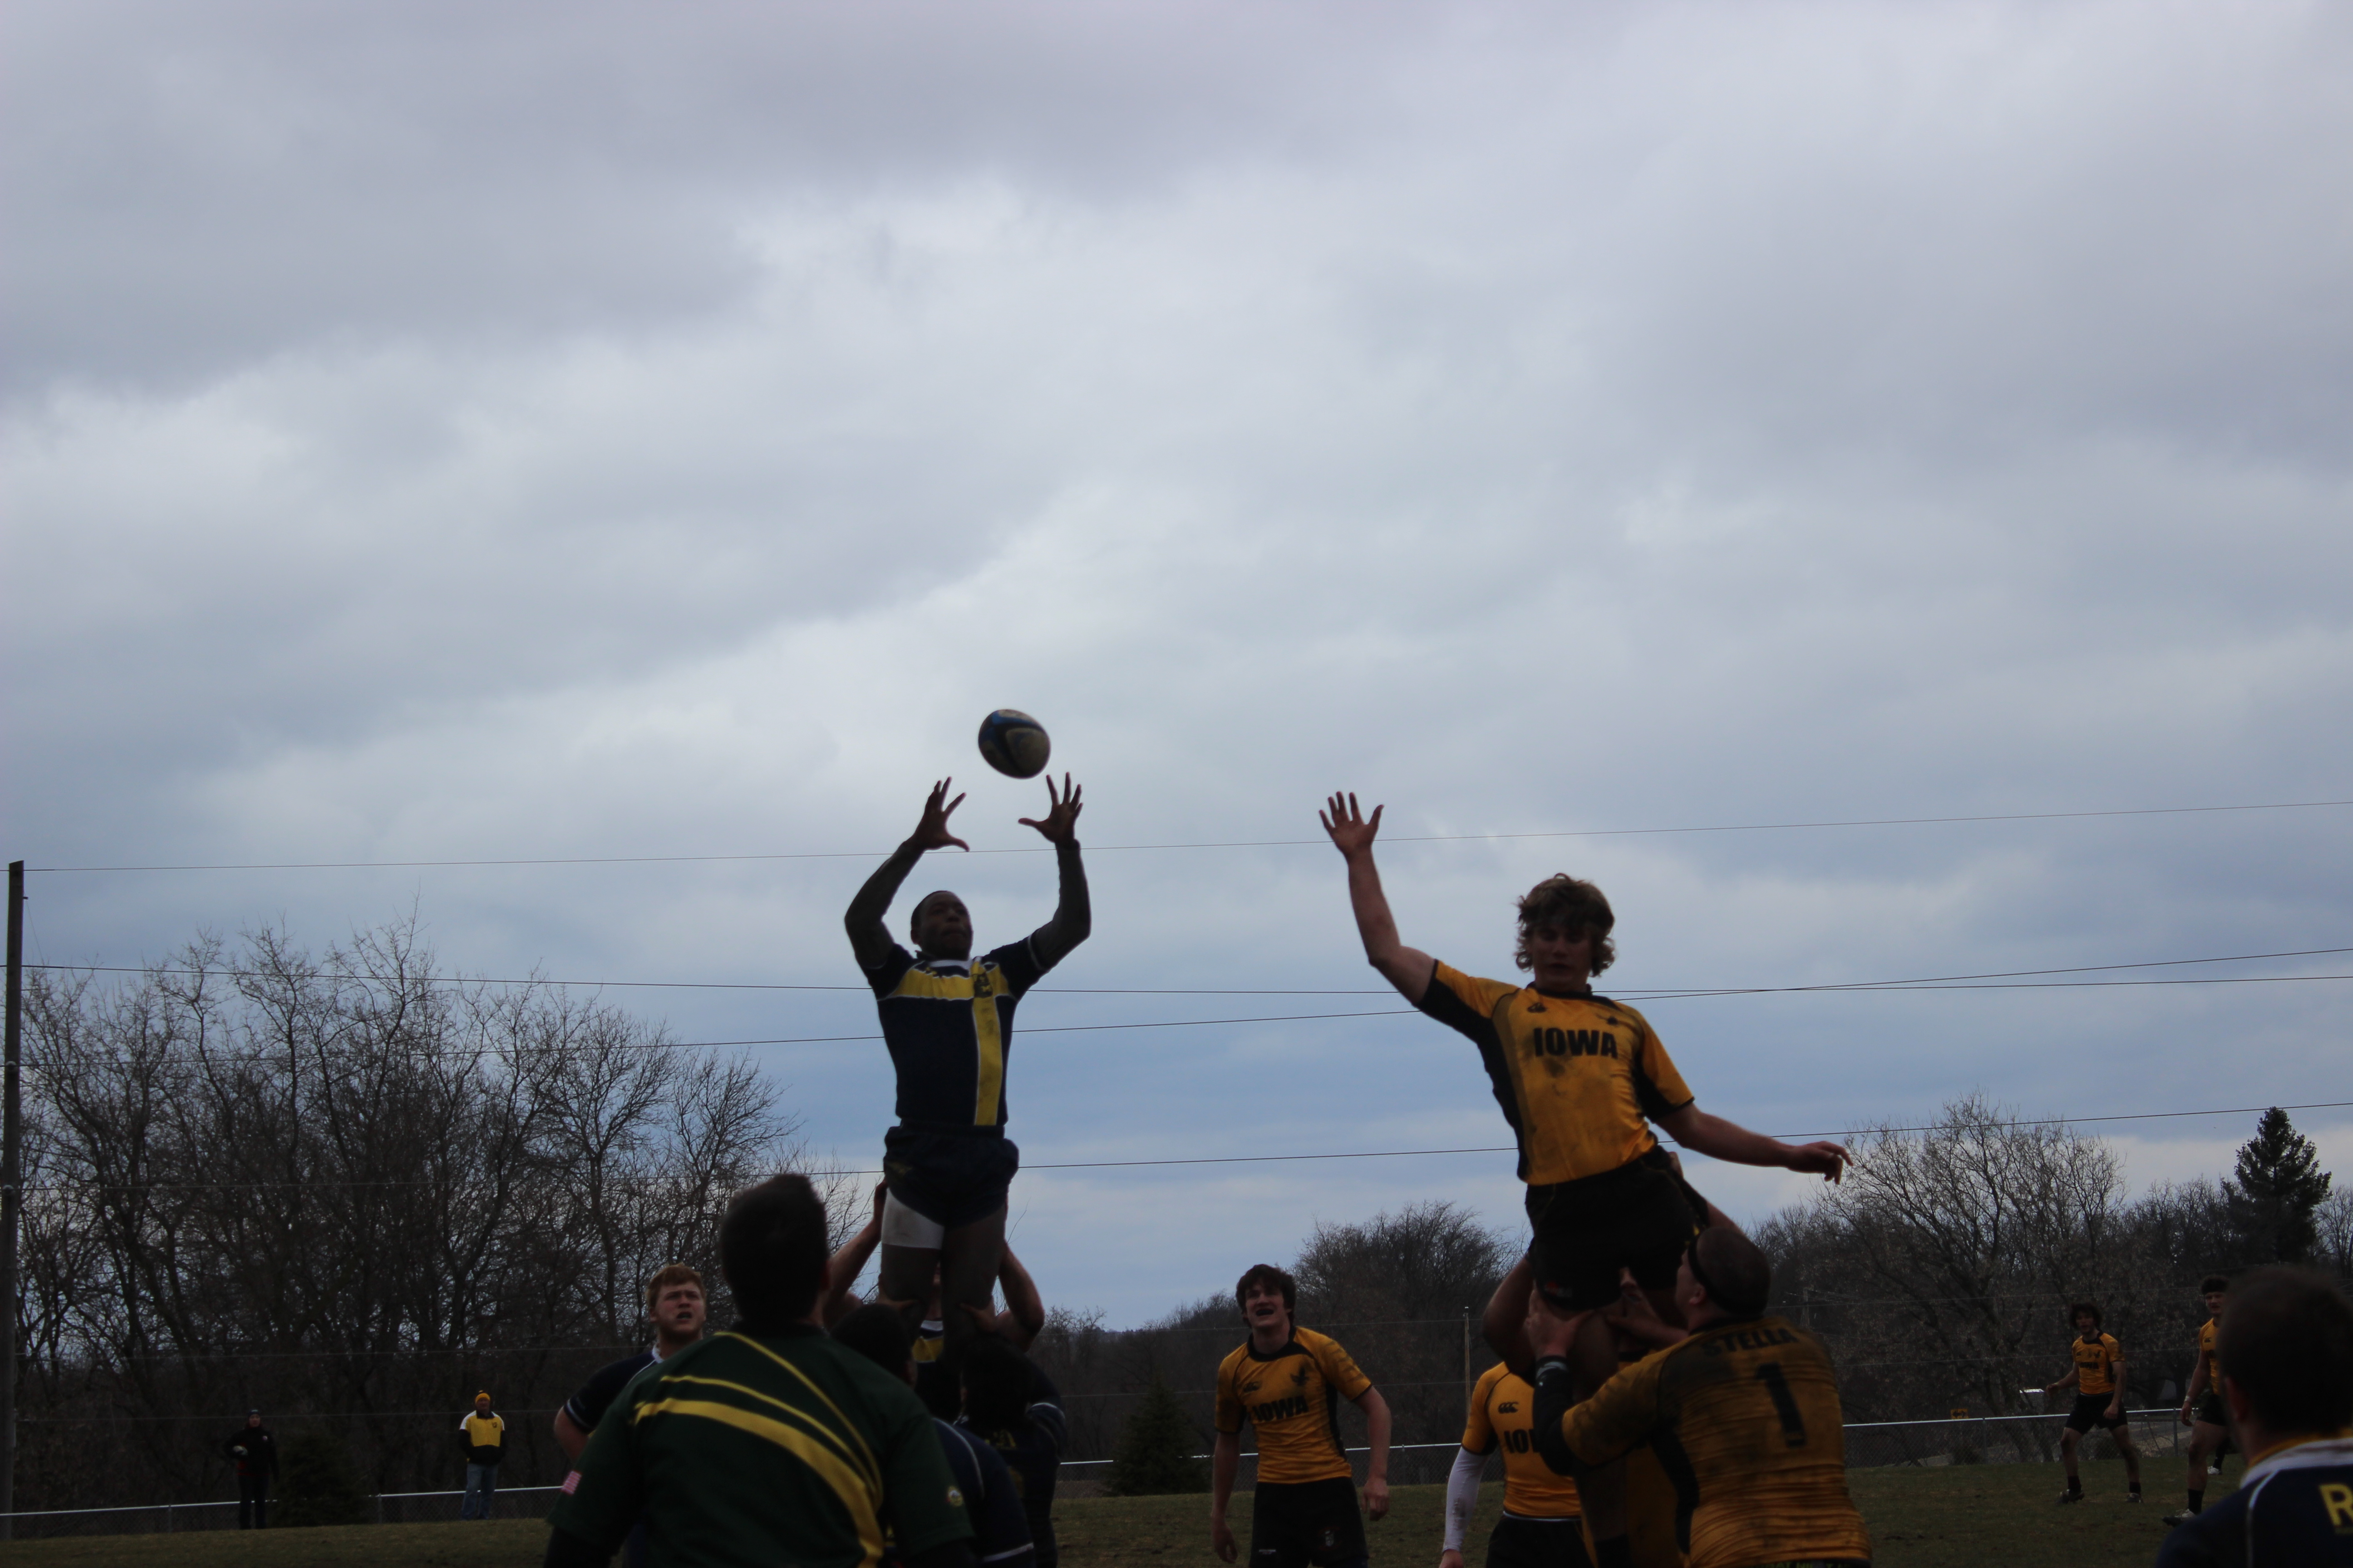
[[[2172,1406],[2125,1413],[2132,1441],[2144,1455],[2181,1453],[2188,1427],[2181,1425]],[[2038,1465],[2059,1458],[2059,1429],[2066,1418],[2057,1410],[2045,1415],[1946,1415],[1937,1420],[1880,1420],[1849,1422],[1845,1427],[1847,1467],[1878,1469],[1892,1465]],[[2153,1439],[2165,1439],[2160,1446]],[[2113,1453],[2099,1432],[2089,1439],[2087,1458],[2099,1460]],[[1428,1486],[1445,1481],[1454,1467],[1457,1443],[1393,1443],[1388,1479],[1393,1486]],[[1351,1455],[1367,1453],[1351,1448]],[[1209,1455],[1198,1455],[1207,1460]],[[1257,1453],[1245,1453],[1245,1469],[1235,1486],[1254,1481]],[[1061,1469],[1073,1481],[1094,1479],[1111,1460],[1064,1460]],[[1092,1474],[1089,1474],[1092,1472]],[[1504,1455],[1487,1458],[1487,1479],[1501,1479]],[[560,1486],[501,1486],[492,1497],[494,1519],[534,1519],[555,1502]],[[376,1493],[369,1497],[376,1523],[426,1523],[456,1519],[464,1490],[447,1493]],[[271,1497],[271,1509],[280,1507]],[[16,1540],[40,1535],[155,1535],[176,1530],[233,1530],[238,1528],[238,1502],[139,1502],[108,1509],[28,1509],[0,1514],[14,1526]],[[31,1526],[31,1528],[28,1528]]]

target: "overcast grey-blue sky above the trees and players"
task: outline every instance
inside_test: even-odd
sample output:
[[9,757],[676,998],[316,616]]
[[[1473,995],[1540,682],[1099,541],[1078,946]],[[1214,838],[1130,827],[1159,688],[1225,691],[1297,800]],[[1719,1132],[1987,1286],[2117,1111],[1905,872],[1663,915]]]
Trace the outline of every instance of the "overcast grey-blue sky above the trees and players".
[[[28,957],[414,910],[447,969],[856,985],[840,907],[1035,712],[1054,985],[1377,985],[1325,790],[1532,835],[2353,799],[2337,5],[21,0],[0,49],[5,844]],[[1395,844],[1607,987],[2353,947],[2353,809]],[[981,940],[1052,858],[955,856]],[[904,924],[904,905],[892,924]],[[2341,976],[2353,954],[2153,971]],[[2146,978],[2151,971],[2139,971]],[[2134,971],[2087,978],[2125,980]],[[856,992],[609,990],[678,1039]],[[1049,1025],[1377,1011],[1038,994]],[[1774,1133],[2353,1100],[2353,983],[1645,1004]],[[873,1164],[878,1044],[751,1046]],[[1508,1143],[1421,1018],[1035,1032],[1038,1164]],[[2113,1124],[2137,1185],[2254,1117]],[[2353,1114],[2297,1112],[2353,1173]],[[1802,1197],[1694,1166],[1739,1215]],[[1508,1154],[1031,1171],[1144,1321]]]

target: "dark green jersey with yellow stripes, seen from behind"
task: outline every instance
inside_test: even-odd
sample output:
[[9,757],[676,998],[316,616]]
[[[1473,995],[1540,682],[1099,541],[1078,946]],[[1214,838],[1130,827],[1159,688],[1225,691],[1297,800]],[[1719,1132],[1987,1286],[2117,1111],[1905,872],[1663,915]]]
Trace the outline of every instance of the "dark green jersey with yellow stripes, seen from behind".
[[821,1328],[715,1333],[645,1368],[595,1425],[548,1523],[656,1563],[875,1568],[972,1537],[915,1392]]

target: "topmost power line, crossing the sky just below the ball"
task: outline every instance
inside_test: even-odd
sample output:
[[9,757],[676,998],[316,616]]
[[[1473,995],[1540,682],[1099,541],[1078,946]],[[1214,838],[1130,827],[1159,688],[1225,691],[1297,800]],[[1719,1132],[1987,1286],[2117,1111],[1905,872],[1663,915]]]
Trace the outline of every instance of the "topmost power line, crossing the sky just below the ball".
[[[1687,827],[1562,827],[1544,832],[1424,832],[1391,835],[1384,844],[1480,844],[1508,839],[1626,839],[1680,832],[1807,832],[1826,827],[1929,827],[1946,823],[2064,823],[2099,816],[2209,816],[2221,811],[2320,811],[2327,806],[2353,806],[2353,799],[2287,799],[2247,806],[2122,806],[2104,811],[2002,811],[1986,816],[1871,816],[1821,823],[1708,823]],[[1327,844],[1329,839],[1219,839],[1188,844],[1094,844],[1094,853],[1120,851],[1167,851],[1167,849],[1297,849]],[[1052,844],[1021,844],[1012,849],[974,849],[976,856],[1042,856]],[[713,865],[741,860],[880,860],[889,851],[819,849],[781,853],[732,853],[732,856],[511,856],[494,860],[254,860],[214,865],[35,865],[40,875],[64,872],[348,872],[348,870],[449,870],[449,867],[499,867],[499,865]]]

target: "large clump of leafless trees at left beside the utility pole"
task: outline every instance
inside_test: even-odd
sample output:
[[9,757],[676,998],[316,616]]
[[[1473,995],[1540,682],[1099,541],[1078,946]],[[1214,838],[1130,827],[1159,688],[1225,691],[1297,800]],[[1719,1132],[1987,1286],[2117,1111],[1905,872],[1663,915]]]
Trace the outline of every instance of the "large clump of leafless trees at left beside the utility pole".
[[715,1274],[727,1194],[809,1164],[751,1063],[435,976],[414,924],[35,976],[28,1507],[214,1490],[247,1406],[440,1486],[482,1385],[553,1472],[544,1415],[640,1333],[640,1281]]

